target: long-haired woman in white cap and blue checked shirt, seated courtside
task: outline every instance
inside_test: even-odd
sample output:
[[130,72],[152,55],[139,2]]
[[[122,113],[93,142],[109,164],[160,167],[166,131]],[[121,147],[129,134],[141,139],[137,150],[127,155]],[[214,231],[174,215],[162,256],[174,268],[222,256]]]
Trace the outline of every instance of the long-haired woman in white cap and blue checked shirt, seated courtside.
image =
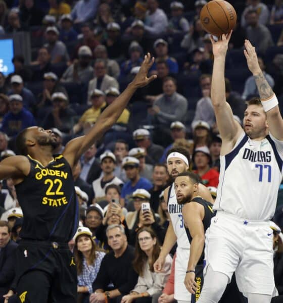
[[78,293],[92,293],[92,283],[99,272],[105,252],[100,251],[87,227],[79,227],[74,235],[74,259],[78,272]]

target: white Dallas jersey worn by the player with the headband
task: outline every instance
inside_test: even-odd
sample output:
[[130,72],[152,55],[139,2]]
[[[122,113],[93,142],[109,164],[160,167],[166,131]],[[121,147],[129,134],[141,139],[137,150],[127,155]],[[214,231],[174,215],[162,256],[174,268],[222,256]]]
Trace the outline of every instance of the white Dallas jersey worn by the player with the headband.
[[170,186],[168,192],[168,212],[172,221],[174,232],[177,236],[178,247],[190,249],[190,242],[187,239],[187,235],[184,228],[184,221],[182,216],[182,205],[177,203],[177,197],[175,193],[174,183]]

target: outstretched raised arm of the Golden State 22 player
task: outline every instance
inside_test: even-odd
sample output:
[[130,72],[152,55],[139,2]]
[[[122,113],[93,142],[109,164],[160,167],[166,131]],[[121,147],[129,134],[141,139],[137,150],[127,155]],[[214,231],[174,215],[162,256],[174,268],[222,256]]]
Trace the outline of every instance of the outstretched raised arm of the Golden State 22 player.
[[146,86],[156,78],[156,75],[152,75],[149,78],[147,76],[153,62],[154,58],[151,58],[151,55],[148,53],[133,81],[120,96],[102,112],[89,133],[85,136],[71,140],[66,145],[63,155],[71,166],[80,158],[84,151],[97,141],[118,120],[136,89]]

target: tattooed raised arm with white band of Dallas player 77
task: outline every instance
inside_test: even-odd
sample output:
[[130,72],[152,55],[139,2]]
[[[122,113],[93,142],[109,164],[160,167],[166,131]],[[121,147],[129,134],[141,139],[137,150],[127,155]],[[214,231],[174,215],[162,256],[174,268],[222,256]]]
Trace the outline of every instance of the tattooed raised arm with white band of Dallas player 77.
[[255,47],[249,40],[245,40],[245,48],[244,54],[249,70],[252,72],[256,81],[261,104],[267,115],[269,131],[276,139],[283,140],[283,119],[279,111],[276,95],[259,67]]

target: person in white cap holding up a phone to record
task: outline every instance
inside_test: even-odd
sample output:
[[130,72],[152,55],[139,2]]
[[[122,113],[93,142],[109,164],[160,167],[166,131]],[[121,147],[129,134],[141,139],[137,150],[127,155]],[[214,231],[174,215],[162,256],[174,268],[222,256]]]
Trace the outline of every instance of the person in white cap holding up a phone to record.
[[166,230],[157,222],[156,215],[150,207],[150,193],[138,188],[132,194],[135,211],[129,212],[126,222],[129,228],[129,244],[134,245],[137,231],[142,227],[151,227],[160,243],[163,243]]

